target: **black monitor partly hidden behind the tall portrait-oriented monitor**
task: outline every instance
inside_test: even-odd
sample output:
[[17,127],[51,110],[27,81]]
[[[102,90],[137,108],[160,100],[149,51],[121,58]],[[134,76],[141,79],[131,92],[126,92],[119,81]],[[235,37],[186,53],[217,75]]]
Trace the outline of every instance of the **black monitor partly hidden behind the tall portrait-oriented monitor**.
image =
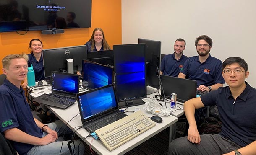
[[[159,89],[159,69],[161,57],[161,41],[138,39],[138,43],[146,44],[146,84]],[[147,87],[147,95],[157,92]]]

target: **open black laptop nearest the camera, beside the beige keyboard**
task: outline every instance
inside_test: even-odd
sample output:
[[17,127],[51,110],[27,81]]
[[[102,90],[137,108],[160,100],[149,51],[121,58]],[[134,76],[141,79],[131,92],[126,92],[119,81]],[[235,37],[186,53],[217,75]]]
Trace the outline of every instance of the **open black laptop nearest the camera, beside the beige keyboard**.
[[90,133],[127,116],[119,111],[113,84],[76,96],[82,124]]

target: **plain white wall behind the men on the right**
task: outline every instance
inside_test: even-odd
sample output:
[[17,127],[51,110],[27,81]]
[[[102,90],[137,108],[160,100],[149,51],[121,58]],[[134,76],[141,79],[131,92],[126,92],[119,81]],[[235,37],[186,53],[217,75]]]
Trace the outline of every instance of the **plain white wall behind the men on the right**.
[[122,43],[158,40],[162,54],[169,54],[174,41],[183,38],[184,54],[191,57],[197,55],[196,37],[206,34],[213,40],[213,57],[246,60],[246,81],[256,88],[255,7],[256,0],[122,0]]

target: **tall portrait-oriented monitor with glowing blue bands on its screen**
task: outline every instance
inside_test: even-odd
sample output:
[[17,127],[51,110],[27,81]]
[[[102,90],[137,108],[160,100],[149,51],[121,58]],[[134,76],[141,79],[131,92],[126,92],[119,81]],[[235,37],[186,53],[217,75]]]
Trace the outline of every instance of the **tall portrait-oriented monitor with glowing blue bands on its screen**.
[[146,98],[146,44],[114,45],[115,90],[123,108],[144,104]]

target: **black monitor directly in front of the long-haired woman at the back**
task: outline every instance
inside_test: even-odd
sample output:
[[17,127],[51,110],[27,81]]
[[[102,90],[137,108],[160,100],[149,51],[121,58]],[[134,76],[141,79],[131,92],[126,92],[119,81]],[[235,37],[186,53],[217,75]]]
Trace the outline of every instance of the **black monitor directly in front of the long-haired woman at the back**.
[[87,52],[87,60],[107,66],[114,66],[113,50]]

